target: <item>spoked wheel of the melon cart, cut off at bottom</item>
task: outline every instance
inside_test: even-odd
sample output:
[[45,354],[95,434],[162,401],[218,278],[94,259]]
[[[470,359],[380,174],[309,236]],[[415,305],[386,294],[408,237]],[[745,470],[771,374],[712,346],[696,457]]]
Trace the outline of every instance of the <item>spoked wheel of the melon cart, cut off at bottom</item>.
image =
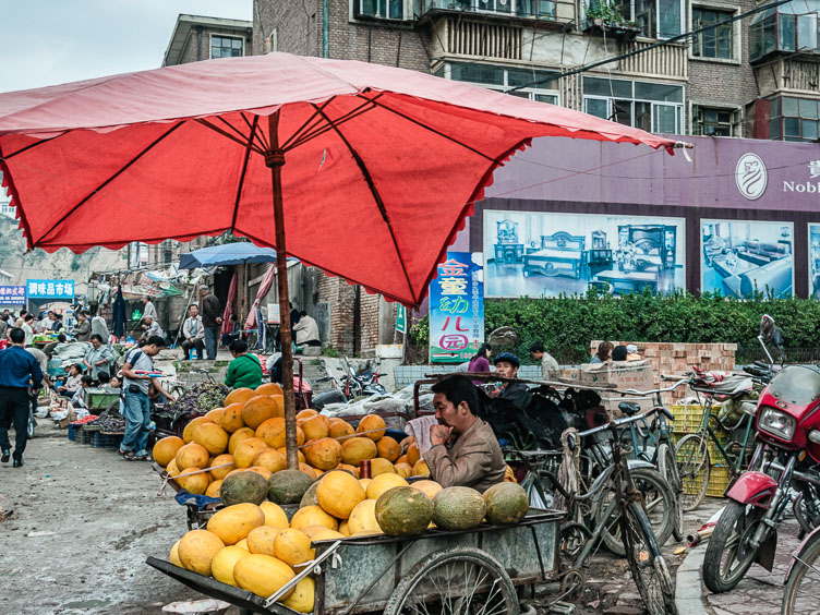
[[519,615],[516,588],[504,567],[480,548],[444,548],[419,562],[396,587],[385,615],[483,613]]

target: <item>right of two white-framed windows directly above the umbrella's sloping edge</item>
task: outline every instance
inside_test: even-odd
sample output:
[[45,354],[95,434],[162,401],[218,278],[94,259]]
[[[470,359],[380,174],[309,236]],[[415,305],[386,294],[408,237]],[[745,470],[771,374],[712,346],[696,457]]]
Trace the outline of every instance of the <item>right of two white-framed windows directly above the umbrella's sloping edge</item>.
[[680,134],[684,88],[666,83],[583,77],[583,110],[649,132]]

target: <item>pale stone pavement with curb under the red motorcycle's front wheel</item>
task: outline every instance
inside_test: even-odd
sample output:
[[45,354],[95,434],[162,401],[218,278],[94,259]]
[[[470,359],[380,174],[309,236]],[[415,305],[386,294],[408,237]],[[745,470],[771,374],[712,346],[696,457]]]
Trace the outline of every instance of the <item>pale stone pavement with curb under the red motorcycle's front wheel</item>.
[[[707,505],[712,510],[718,510],[725,502],[710,498]],[[711,512],[706,517],[709,518]],[[703,542],[689,550],[677,570],[675,599],[679,615],[779,615],[785,574],[792,553],[800,543],[797,532],[797,521],[787,517],[777,528],[777,551],[772,571],[752,564],[734,590],[721,594],[711,593],[703,586],[701,568],[708,543]]]

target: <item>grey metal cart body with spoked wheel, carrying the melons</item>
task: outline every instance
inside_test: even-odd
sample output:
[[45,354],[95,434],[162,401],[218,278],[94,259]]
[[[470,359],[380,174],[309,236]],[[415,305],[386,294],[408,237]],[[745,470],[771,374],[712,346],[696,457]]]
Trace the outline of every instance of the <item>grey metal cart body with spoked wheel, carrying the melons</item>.
[[[491,596],[503,601],[505,612],[518,613],[516,587],[559,578],[563,518],[564,512],[531,508],[515,526],[482,523],[463,531],[427,530],[412,539],[379,534],[314,542],[316,559],[304,571],[313,571],[316,578],[313,612],[396,615],[417,611],[419,605],[424,610],[422,602],[480,604]],[[242,613],[293,613],[169,562],[148,557],[146,563],[205,595],[239,606]],[[299,575],[277,593],[298,580]]]

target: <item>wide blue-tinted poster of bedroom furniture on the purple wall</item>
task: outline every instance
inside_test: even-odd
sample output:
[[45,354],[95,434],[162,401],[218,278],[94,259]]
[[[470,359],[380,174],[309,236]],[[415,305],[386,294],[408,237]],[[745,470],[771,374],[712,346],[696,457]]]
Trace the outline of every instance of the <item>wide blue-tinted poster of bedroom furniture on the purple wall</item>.
[[685,288],[683,218],[484,212],[485,297]]

